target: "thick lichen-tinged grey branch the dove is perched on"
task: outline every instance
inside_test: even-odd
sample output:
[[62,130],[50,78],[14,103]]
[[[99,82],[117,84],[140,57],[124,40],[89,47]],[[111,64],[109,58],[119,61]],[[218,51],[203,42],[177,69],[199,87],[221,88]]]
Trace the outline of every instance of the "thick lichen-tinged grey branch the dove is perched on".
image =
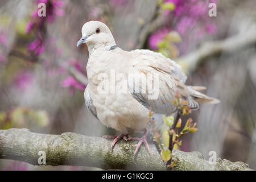
[[[46,165],[92,166],[103,169],[166,169],[154,144],[151,156],[144,146],[133,156],[135,141],[119,141],[114,149],[112,140],[86,137],[75,133],[49,135],[32,133],[27,129],[0,130],[0,159],[21,160],[38,164],[39,151],[46,152]],[[242,162],[217,159],[209,164],[199,152],[173,151],[174,170],[250,170]]]

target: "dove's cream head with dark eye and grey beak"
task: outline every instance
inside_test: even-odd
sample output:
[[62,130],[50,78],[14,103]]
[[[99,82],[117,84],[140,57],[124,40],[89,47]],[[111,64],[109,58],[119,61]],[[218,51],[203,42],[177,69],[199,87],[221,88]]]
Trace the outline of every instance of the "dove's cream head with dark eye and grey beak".
[[88,49],[115,46],[115,40],[109,27],[98,21],[86,22],[82,26],[82,38],[76,46],[79,47],[82,43],[86,43]]

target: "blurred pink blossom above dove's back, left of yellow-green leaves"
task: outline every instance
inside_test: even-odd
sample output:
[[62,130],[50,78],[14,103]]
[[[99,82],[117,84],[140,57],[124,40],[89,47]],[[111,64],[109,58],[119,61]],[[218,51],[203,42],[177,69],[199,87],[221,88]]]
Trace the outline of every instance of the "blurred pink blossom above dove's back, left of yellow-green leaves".
[[158,43],[170,32],[170,28],[160,28],[156,32],[150,35],[148,44],[151,49],[158,49]]

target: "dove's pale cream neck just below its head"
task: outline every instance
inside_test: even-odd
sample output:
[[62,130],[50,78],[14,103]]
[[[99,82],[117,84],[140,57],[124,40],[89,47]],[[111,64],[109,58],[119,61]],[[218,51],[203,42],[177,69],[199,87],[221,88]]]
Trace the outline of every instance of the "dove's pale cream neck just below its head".
[[112,46],[116,46],[113,36],[109,40],[87,44],[89,56],[98,51],[109,51]]

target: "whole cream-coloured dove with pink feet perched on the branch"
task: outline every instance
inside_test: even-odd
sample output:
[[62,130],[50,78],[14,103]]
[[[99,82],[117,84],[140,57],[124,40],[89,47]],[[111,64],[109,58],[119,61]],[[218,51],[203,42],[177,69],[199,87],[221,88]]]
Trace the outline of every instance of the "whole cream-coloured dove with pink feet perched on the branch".
[[[123,51],[102,22],[90,21],[82,26],[77,47],[82,43],[89,51],[85,104],[104,125],[122,133],[106,136],[114,138],[112,147],[119,139],[127,140],[128,134],[145,131],[150,107],[154,113],[173,114],[176,108],[171,101],[176,92],[191,109],[199,108],[197,102],[218,102],[197,92],[204,87],[185,85],[187,76],[180,65],[161,53],[146,49]],[[140,140],[134,154],[142,142],[150,152],[146,138],[147,132],[139,139],[128,138]]]

